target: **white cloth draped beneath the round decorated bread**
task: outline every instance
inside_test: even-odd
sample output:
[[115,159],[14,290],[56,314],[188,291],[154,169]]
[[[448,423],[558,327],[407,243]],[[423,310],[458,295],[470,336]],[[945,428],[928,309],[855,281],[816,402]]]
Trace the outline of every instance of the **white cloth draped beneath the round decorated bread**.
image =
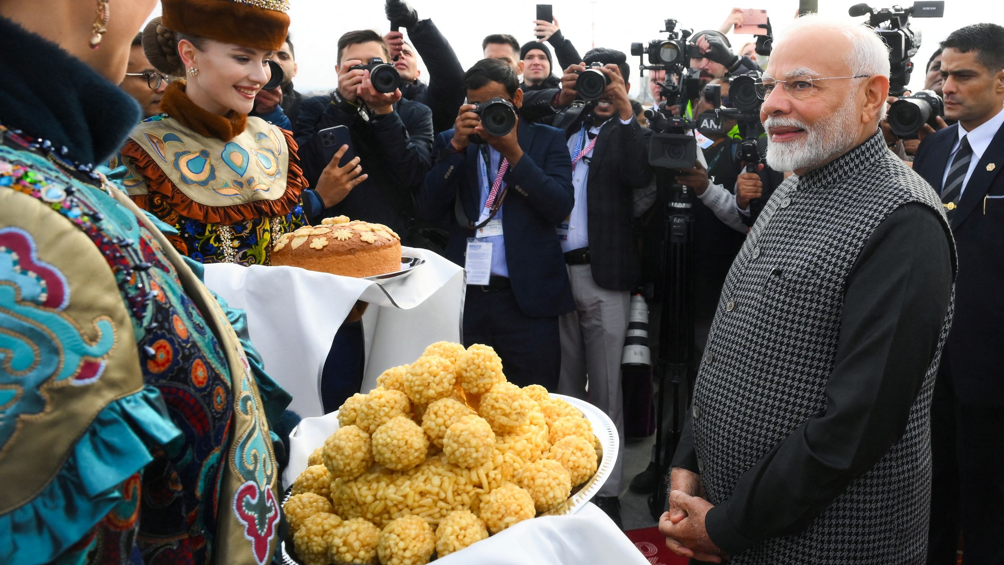
[[293,395],[289,408],[303,417],[318,416],[324,413],[320,371],[356,300],[369,303],[362,317],[362,390],[373,388],[385,369],[417,359],[430,343],[461,340],[464,269],[431,251],[402,251],[426,263],[387,283],[295,267],[214,263],[206,265],[206,286],[247,311],[251,341],[265,370]]

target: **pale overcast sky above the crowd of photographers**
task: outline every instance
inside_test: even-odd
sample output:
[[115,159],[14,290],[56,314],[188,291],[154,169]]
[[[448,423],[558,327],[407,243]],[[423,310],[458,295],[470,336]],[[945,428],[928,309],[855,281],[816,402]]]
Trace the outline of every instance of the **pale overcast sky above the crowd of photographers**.
[[[634,41],[647,42],[665,37],[663,20],[675,18],[680,27],[717,29],[733,6],[766,9],[775,28],[794,17],[798,0],[756,0],[736,3],[732,0],[696,0],[691,2],[651,2],[641,0],[551,0],[554,17],[561,31],[584,53],[593,45],[611,47],[630,53]],[[384,2],[365,0],[291,0],[290,32],[296,46],[299,73],[293,81],[301,92],[328,90],[337,83],[334,71],[335,44],[338,37],[353,29],[375,29],[382,34],[390,27],[384,15]],[[511,33],[521,42],[533,39],[532,20],[536,0],[486,2],[476,0],[414,0],[411,2],[422,19],[432,18],[453,45],[460,62],[468,67],[481,57],[481,40],[490,33]],[[851,19],[847,8],[854,0],[818,0],[819,13],[825,17]],[[952,30],[977,22],[1004,23],[1004,2],[1000,0],[947,0],[945,17],[912,19],[912,28],[923,34],[920,51],[914,57],[919,70],[911,86],[924,83],[924,65],[928,57]],[[871,4],[874,8],[890,4]],[[912,5],[907,2],[903,5]],[[159,13],[160,10],[157,12]],[[154,15],[157,15],[155,13]],[[864,18],[853,18],[860,21]],[[407,30],[406,30],[407,36]],[[734,47],[752,38],[730,35]],[[632,63],[632,82],[638,80],[638,57]],[[428,74],[424,65],[423,75]],[[633,94],[639,86],[633,86]]]

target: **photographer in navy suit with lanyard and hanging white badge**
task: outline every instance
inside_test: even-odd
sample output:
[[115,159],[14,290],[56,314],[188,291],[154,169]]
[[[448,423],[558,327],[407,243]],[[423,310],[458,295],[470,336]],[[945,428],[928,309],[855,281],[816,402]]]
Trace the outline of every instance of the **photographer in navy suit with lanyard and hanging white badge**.
[[558,384],[558,316],[575,307],[554,226],[573,205],[559,129],[518,118],[512,67],[482,59],[464,75],[468,103],[436,137],[419,215],[453,216],[445,256],[467,270],[464,344],[491,345],[520,386]]

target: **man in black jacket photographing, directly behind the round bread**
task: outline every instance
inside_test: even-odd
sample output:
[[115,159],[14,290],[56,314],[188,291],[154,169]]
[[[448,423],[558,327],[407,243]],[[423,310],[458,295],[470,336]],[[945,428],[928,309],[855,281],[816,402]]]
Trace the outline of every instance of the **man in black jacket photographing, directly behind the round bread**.
[[[404,245],[434,249],[434,243],[413,230],[413,194],[431,162],[432,111],[402,98],[400,88],[378,90],[374,82],[390,90],[394,84],[384,82],[393,82],[397,72],[390,65],[362,67],[390,58],[375,31],[350,31],[338,39],[338,88],[307,98],[300,107],[296,140],[303,176],[311,187],[318,187],[321,177],[328,181],[321,185],[323,191],[304,191],[303,207],[312,221],[343,215],[380,223],[398,232]],[[337,125],[348,128],[351,148],[324,147],[320,131]],[[339,167],[349,149],[355,159]]]

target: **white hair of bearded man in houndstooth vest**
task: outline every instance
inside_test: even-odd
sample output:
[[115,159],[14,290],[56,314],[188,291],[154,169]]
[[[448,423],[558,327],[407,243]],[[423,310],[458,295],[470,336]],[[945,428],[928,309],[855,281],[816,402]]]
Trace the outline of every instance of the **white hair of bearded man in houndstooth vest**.
[[[850,50],[843,56],[843,61],[850,68],[850,75],[867,74],[869,76],[889,76],[889,47],[878,37],[874,29],[849,20],[822,19],[819,14],[806,14],[796,18],[784,28],[784,31],[774,38],[773,49],[778,44],[797,31],[832,30],[843,34],[850,41]],[[878,121],[886,119],[886,104],[878,109]]]

